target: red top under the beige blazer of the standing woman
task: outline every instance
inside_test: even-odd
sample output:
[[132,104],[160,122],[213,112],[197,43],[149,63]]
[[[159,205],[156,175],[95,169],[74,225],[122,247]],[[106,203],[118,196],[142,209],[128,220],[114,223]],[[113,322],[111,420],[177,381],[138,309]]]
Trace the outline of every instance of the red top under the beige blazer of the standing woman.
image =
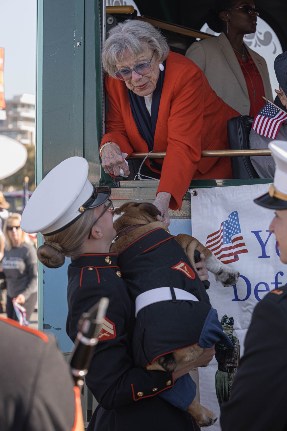
[[[262,96],[265,96],[264,94],[264,86],[263,86],[263,81],[261,78],[261,75],[259,73],[259,70],[256,67],[256,64],[254,63],[253,59],[251,58],[250,54],[248,53],[248,62],[246,63],[244,60],[242,60],[241,56],[239,56],[237,53],[235,53],[238,59],[238,62],[241,66],[241,70],[243,72],[245,81],[246,81],[246,85],[247,85],[247,90],[248,90],[248,95],[249,95],[249,100],[250,100],[250,112],[249,115],[251,115],[252,117],[255,117],[256,114],[258,114],[258,112],[263,108],[263,106],[265,105],[265,100],[262,99]],[[253,67],[252,67],[253,66]],[[254,71],[256,72],[256,74],[254,73]],[[248,76],[248,73],[250,76]],[[256,76],[257,76],[257,85],[256,85]],[[251,80],[250,80],[251,78]],[[252,83],[251,83],[252,81]],[[253,86],[252,86],[253,84]],[[256,87],[255,89],[255,101],[254,101],[254,91],[253,89]]]

